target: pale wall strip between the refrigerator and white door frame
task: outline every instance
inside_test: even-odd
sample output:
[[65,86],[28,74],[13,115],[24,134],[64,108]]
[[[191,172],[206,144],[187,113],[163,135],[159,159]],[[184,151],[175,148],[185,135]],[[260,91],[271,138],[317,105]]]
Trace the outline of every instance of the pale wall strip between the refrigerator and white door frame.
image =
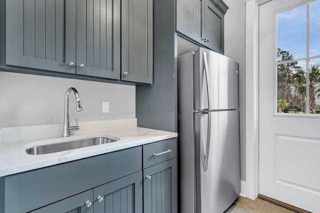
[[245,4],[224,2],[229,7],[224,16],[224,55],[239,63],[241,180],[245,181]]

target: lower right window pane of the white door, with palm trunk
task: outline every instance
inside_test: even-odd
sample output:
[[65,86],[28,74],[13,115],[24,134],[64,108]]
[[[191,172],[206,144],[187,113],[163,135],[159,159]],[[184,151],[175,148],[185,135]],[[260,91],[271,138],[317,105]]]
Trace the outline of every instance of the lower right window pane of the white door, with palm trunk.
[[309,113],[320,114],[320,58],[309,62]]

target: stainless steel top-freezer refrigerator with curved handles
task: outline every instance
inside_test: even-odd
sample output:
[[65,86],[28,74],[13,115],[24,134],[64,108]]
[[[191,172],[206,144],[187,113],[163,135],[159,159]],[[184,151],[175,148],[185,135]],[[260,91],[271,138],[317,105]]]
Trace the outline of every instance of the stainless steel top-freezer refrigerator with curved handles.
[[177,58],[180,213],[223,213],[240,194],[238,63]]

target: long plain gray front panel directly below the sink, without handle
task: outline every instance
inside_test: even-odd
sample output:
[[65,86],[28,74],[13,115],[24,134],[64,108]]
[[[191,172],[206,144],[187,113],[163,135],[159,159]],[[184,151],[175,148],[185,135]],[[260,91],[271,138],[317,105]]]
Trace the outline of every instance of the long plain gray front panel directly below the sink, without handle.
[[5,212],[31,211],[133,174],[142,169],[141,156],[142,148],[135,147],[7,176]]

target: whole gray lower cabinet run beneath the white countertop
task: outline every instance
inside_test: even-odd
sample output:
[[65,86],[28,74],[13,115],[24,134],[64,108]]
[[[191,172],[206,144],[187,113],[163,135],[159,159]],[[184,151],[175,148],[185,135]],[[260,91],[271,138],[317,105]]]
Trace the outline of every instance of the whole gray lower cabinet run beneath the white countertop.
[[4,213],[177,213],[176,164],[176,139],[163,140],[0,178],[0,202]]

